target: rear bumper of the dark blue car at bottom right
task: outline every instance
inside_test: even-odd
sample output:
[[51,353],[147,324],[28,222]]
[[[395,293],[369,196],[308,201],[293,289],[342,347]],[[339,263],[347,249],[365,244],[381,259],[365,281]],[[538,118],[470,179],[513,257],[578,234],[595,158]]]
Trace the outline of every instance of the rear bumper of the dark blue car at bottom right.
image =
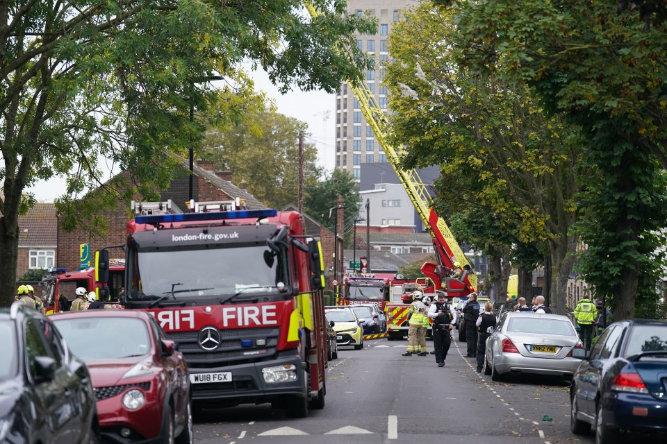
[[610,427],[636,432],[667,432],[667,399],[660,400],[652,395],[611,393],[604,398],[602,415],[604,424]]

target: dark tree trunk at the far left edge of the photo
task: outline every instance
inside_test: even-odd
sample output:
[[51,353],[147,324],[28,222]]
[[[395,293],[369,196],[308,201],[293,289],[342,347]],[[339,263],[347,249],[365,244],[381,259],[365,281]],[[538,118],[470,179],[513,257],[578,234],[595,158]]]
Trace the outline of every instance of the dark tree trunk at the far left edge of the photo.
[[16,294],[19,225],[11,216],[0,217],[0,307],[9,307]]

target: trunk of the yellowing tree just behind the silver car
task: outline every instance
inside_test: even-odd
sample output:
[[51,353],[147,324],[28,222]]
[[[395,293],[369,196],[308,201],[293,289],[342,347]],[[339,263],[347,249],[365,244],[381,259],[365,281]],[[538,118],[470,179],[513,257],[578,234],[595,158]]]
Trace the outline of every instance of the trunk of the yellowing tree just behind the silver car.
[[549,305],[557,314],[566,314],[567,311],[568,278],[575,265],[574,253],[577,248],[577,239],[576,236],[566,235],[565,239],[550,241],[552,276],[556,278],[551,282]]

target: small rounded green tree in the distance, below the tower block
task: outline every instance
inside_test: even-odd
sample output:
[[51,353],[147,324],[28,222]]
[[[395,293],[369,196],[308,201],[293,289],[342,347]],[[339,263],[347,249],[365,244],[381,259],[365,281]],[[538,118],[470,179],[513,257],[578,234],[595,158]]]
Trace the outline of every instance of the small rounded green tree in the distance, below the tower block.
[[[352,174],[344,169],[336,168],[331,173],[325,174],[320,182],[308,190],[307,196],[304,196],[304,212],[334,231],[336,215],[331,208],[336,207],[338,196],[343,196],[345,201],[343,216],[345,222],[352,223],[351,221],[354,221],[359,213],[361,198]],[[343,235],[343,233],[338,234]]]

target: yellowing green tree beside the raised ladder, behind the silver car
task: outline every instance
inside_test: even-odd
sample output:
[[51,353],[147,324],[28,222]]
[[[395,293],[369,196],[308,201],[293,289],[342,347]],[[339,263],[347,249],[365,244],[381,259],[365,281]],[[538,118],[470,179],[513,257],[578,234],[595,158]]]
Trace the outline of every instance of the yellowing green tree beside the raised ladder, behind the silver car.
[[406,148],[408,166],[440,165],[436,208],[447,199],[465,202],[456,210],[479,206],[495,216],[508,231],[495,246],[503,259],[518,252],[507,246],[548,244],[550,305],[564,312],[577,246],[574,198],[586,171],[581,128],[545,110],[534,89],[468,69],[454,23],[450,10],[423,3],[395,26],[386,76],[393,140]]

